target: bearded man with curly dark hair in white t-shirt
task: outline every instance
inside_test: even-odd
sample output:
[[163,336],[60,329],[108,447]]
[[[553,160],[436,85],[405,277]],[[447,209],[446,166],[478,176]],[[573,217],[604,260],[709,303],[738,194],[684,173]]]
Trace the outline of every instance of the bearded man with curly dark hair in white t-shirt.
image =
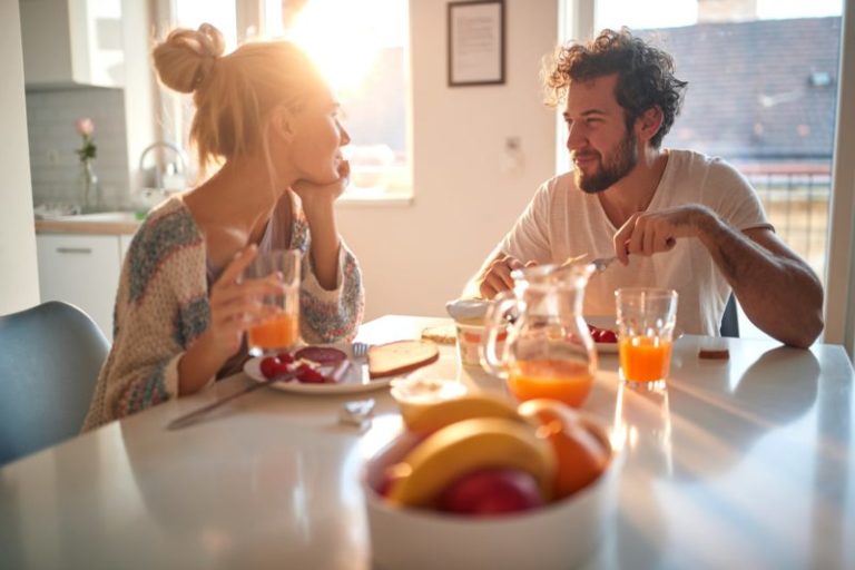
[[823,330],[822,285],[748,181],[720,159],[660,147],[686,85],[669,55],[627,29],[561,48],[546,87],[564,104],[574,169],[538,189],[468,291],[492,298],[514,268],[617,255],[591,278],[586,314],[615,314],[619,287],[668,287],[680,328],[717,335],[733,289],[764,332],[809,346]]

